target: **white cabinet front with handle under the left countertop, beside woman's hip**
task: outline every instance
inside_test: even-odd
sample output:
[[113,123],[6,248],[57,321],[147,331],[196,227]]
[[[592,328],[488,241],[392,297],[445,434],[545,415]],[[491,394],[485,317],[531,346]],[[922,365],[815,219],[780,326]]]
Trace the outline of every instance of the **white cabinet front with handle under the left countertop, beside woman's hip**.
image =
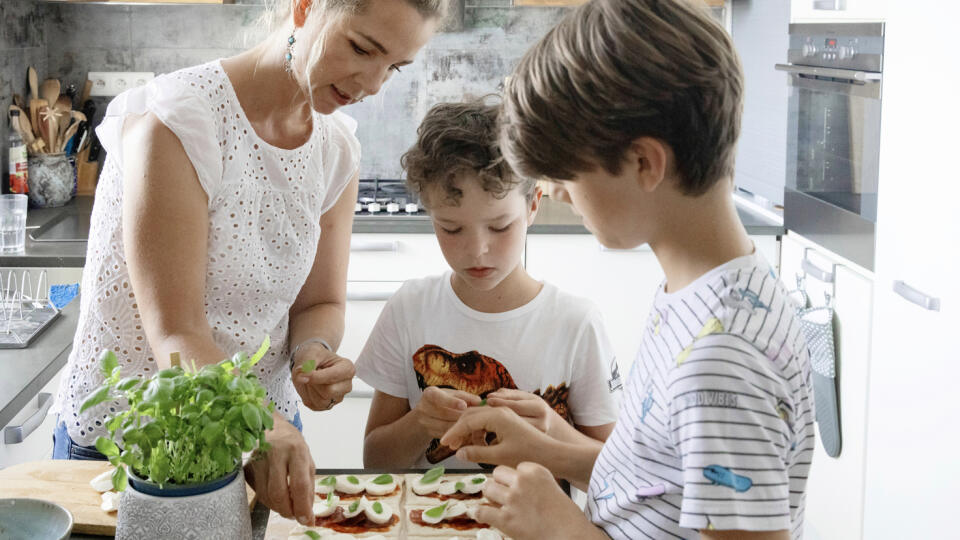
[[[53,431],[56,428],[56,416],[45,414],[44,409],[48,409],[57,398],[57,389],[60,386],[60,376],[63,369],[57,372],[52,379],[40,391],[39,397],[33,398],[26,407],[20,411],[7,426],[25,426],[31,420],[41,419],[41,423],[32,432],[27,434],[22,442],[16,444],[7,444],[4,442],[3,435],[0,434],[0,469],[25,463],[27,461],[36,461],[38,459],[50,459],[53,455]],[[49,396],[49,397],[47,397]],[[41,403],[41,399],[43,403]],[[46,402],[49,399],[49,403]],[[41,404],[46,404],[40,408]]]

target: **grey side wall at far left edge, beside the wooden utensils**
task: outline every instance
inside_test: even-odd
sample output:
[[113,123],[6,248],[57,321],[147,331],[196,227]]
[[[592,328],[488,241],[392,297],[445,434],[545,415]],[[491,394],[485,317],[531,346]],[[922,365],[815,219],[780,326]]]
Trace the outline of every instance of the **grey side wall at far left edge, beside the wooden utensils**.
[[7,185],[7,121],[6,111],[13,94],[26,94],[27,66],[46,72],[47,54],[43,24],[43,7],[39,0],[0,0],[0,141],[3,141],[2,177]]

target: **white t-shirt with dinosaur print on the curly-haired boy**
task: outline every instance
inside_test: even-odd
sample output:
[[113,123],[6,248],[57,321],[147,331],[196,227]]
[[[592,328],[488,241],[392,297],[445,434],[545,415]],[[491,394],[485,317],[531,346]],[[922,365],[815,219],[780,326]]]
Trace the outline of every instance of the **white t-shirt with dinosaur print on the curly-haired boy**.
[[[416,407],[427,386],[486,397],[498,388],[540,395],[582,426],[617,417],[619,376],[600,313],[545,283],[517,309],[482,313],[464,304],[451,272],[407,281],[387,302],[357,359],[357,376]],[[434,440],[417,467],[473,468]]]

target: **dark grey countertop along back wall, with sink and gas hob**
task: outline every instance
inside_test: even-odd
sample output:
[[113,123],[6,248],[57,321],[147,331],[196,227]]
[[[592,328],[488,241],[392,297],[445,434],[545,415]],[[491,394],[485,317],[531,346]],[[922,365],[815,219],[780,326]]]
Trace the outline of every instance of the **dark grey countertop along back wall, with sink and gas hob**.
[[[31,209],[27,213],[27,238],[24,253],[0,255],[3,267],[81,268],[87,252],[86,232],[90,228],[93,197],[77,197],[60,208]],[[740,220],[747,233],[780,236],[783,221],[737,204]],[[364,216],[354,218],[355,233],[433,234],[430,218]],[[580,217],[569,205],[544,198],[530,234],[589,234]],[[31,235],[38,240],[31,238]]]

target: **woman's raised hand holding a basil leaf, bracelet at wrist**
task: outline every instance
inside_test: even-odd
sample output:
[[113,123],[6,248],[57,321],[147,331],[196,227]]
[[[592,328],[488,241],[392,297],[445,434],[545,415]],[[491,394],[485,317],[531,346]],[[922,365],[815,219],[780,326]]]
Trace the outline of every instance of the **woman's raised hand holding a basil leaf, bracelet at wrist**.
[[[314,369],[304,372],[303,367]],[[338,356],[319,343],[308,343],[297,351],[293,362],[293,386],[303,404],[315,411],[332,409],[353,389],[353,362]]]

